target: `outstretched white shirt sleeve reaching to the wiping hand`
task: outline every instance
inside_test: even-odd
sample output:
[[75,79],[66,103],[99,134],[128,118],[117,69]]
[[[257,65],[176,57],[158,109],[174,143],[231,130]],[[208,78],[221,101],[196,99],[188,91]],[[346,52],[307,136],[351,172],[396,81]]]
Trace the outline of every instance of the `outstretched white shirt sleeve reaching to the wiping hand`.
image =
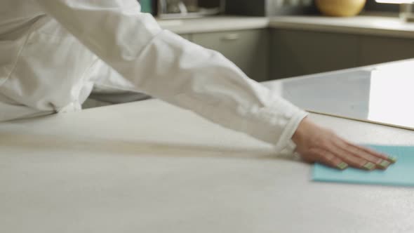
[[220,53],[159,27],[135,0],[36,0],[136,91],[236,131],[290,145],[306,112],[249,79]]

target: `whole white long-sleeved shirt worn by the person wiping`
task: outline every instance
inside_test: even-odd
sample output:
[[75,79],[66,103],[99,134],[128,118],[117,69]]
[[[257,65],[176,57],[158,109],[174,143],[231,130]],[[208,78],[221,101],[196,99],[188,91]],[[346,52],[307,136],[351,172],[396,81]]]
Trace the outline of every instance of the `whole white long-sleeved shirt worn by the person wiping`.
[[306,113],[135,0],[2,0],[0,121],[81,109],[94,85],[147,93],[283,149]]

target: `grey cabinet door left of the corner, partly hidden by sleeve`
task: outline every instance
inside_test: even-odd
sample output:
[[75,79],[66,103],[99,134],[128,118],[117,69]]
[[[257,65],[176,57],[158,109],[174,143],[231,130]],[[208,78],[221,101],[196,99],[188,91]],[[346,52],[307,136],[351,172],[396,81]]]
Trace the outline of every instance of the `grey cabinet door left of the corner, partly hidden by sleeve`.
[[222,53],[251,79],[268,79],[267,29],[192,34],[192,41]]

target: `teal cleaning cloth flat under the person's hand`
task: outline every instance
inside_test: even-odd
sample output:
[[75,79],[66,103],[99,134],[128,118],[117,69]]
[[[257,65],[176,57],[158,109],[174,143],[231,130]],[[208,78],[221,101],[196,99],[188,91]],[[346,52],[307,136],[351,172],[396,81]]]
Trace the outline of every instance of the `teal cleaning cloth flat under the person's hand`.
[[394,185],[414,187],[414,146],[366,145],[378,152],[398,158],[387,170],[362,171],[347,168],[344,171],[315,164],[312,180],[322,182],[346,182],[369,185]]

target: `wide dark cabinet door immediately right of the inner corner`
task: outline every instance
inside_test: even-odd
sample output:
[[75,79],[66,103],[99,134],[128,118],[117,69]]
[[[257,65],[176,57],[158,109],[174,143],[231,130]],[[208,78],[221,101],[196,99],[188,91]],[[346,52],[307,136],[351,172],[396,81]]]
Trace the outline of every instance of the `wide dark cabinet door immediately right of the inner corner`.
[[356,67],[358,41],[351,34],[272,29],[270,79]]

